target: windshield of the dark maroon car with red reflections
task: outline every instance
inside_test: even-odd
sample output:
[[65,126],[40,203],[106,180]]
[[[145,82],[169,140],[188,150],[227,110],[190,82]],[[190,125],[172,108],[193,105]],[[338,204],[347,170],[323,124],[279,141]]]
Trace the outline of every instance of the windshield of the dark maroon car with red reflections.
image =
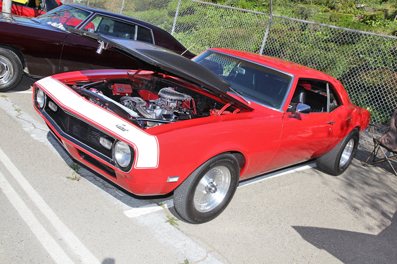
[[76,7],[61,5],[37,19],[57,28],[64,29],[64,26],[76,28],[91,13]]

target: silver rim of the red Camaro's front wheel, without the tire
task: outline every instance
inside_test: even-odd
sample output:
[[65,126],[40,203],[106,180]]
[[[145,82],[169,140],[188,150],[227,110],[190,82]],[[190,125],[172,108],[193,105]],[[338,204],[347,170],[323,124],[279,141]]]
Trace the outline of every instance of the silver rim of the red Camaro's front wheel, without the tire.
[[225,166],[210,169],[199,181],[195,190],[194,205],[197,211],[207,212],[225,199],[230,187],[231,174]]

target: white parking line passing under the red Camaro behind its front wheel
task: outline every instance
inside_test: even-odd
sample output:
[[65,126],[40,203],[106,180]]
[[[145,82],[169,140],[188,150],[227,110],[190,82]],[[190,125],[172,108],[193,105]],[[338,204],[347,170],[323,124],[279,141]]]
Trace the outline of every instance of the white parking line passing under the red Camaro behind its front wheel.
[[[256,182],[260,182],[260,181],[264,181],[264,180],[268,180],[271,178],[275,178],[281,175],[285,175],[285,174],[289,174],[289,173],[293,173],[293,172],[297,172],[297,171],[301,171],[301,170],[305,170],[305,169],[309,169],[309,168],[313,168],[316,166],[316,163],[309,163],[309,164],[305,164],[305,165],[298,165],[298,166],[294,166],[294,167],[290,167],[287,169],[283,169],[280,171],[276,171],[273,173],[269,173],[269,174],[265,174],[262,175],[260,177],[257,177],[255,179],[249,179],[247,181],[243,181],[239,183],[239,186],[237,188],[243,187],[243,186],[247,186]],[[163,205],[165,205],[165,207],[170,208],[174,206],[174,200],[167,200],[162,202]],[[150,204],[150,205],[146,205],[146,206],[141,206],[141,207],[137,207],[137,208],[132,208],[130,210],[125,210],[124,213],[130,217],[138,217],[138,216],[142,216],[145,214],[149,214],[155,211],[160,211],[164,209],[163,207],[159,206],[158,204]]]

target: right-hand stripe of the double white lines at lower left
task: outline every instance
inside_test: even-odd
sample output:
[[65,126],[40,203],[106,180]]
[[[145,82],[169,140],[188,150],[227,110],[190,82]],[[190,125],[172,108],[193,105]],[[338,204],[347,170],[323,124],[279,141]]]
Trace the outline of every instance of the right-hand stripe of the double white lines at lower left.
[[58,218],[54,211],[47,205],[47,203],[41,198],[36,190],[29,184],[29,182],[23,177],[11,160],[5,155],[0,149],[0,161],[4,164],[7,170],[15,178],[15,180],[21,185],[23,190],[32,199],[40,211],[47,217],[55,229],[60,233],[66,244],[70,249],[77,255],[82,263],[85,264],[99,264],[99,261],[92,255],[91,252],[78,240],[78,238],[67,228],[67,226]]

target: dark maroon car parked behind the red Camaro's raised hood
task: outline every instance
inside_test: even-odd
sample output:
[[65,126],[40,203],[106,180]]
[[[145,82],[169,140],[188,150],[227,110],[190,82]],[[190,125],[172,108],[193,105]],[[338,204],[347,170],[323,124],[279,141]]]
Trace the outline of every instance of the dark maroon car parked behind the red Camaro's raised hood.
[[0,12],[0,92],[14,88],[23,72],[39,78],[67,71],[138,66],[136,60],[84,34],[141,41],[187,58],[195,56],[164,30],[101,9],[66,4],[37,18]]

